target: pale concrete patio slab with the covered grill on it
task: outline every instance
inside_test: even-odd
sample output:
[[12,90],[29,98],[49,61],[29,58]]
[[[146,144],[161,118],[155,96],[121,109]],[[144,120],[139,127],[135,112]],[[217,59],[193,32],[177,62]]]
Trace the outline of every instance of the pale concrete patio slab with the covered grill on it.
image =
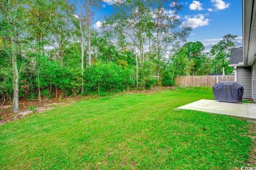
[[181,106],[178,109],[205,111],[213,114],[256,119],[256,104],[253,103],[228,103],[203,99]]

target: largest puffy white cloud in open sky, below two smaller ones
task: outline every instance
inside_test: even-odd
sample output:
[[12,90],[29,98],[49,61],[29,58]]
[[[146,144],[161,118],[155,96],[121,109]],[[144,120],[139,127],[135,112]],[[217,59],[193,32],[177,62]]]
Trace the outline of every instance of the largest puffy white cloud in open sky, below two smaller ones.
[[182,22],[181,26],[189,26],[192,28],[208,26],[209,19],[206,19],[203,14],[194,15],[194,17],[185,16],[185,21]]

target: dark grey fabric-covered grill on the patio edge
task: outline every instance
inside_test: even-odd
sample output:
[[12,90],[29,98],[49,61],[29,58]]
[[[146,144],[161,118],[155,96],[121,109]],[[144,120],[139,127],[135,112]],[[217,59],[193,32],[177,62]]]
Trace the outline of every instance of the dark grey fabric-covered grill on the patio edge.
[[244,87],[236,82],[219,82],[212,87],[214,100],[223,102],[242,102]]

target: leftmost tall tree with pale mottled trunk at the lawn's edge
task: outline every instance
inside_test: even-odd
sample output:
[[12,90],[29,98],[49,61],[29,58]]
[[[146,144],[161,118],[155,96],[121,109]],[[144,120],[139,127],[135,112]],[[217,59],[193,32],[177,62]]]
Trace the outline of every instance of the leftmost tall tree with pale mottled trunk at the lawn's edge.
[[[5,51],[11,58],[13,81],[13,112],[19,111],[19,71],[17,57],[22,50],[21,34],[26,29],[24,1],[0,1],[1,37],[5,43]],[[24,35],[23,35],[24,36]]]

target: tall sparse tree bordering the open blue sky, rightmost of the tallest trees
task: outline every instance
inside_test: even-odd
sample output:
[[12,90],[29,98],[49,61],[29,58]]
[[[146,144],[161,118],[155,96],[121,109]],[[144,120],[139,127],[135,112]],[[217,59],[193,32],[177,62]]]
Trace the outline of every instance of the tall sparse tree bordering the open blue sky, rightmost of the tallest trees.
[[165,53],[170,50],[178,40],[185,41],[189,35],[190,27],[180,27],[181,22],[177,12],[181,9],[181,5],[177,1],[171,1],[168,4],[173,4],[170,9],[167,9],[165,1],[157,1],[157,7],[153,10],[155,28],[155,52],[157,60],[157,77],[160,79],[161,61]]

